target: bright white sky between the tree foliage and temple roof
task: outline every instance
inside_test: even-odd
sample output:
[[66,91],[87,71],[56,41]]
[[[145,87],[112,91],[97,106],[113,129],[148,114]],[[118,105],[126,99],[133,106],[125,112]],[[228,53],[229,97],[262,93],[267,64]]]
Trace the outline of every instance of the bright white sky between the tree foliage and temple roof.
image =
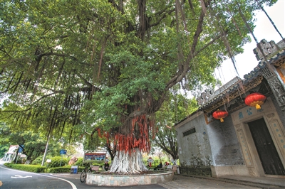
[[[264,9],[283,38],[285,38],[285,0],[279,0],[271,7],[264,6]],[[281,41],[281,36],[277,33],[274,26],[271,25],[266,14],[263,11],[257,11],[256,13],[254,18],[257,18],[257,22],[255,23],[254,36],[257,38],[257,41],[260,42],[262,39],[268,42],[275,41],[275,43]],[[254,38],[252,38],[251,43],[244,45],[244,53],[235,56],[237,70],[241,79],[244,79],[244,75],[254,70],[259,63],[253,53],[254,48],[257,48],[257,43],[255,43]],[[215,76],[219,78],[224,85],[238,75],[234,71],[232,61],[226,60],[222,63],[220,68],[215,70]]]

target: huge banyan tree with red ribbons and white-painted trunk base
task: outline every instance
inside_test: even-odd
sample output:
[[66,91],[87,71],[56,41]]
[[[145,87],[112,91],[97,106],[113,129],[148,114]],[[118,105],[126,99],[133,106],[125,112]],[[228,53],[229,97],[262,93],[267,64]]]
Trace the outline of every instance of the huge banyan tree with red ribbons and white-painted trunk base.
[[214,83],[250,41],[253,11],[274,2],[1,1],[1,117],[47,137],[104,137],[111,172],[147,171],[141,152],[170,89]]

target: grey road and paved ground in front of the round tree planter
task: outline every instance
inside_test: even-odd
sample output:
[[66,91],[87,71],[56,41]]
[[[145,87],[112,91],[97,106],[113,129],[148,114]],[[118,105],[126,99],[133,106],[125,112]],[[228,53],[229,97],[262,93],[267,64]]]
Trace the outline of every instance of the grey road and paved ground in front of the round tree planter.
[[[174,180],[156,185],[133,185],[133,186],[120,186],[120,187],[106,187],[96,185],[86,185],[81,183],[80,173],[31,173],[26,171],[19,171],[1,165],[0,162],[0,181],[3,183],[0,189],[90,189],[90,188],[138,188],[138,189],[185,189],[185,188],[230,188],[230,189],[254,189],[254,188],[267,188],[260,185],[247,185],[244,183],[229,183],[222,180],[204,179],[187,177],[183,175],[175,175]],[[0,183],[1,183],[0,182]]]

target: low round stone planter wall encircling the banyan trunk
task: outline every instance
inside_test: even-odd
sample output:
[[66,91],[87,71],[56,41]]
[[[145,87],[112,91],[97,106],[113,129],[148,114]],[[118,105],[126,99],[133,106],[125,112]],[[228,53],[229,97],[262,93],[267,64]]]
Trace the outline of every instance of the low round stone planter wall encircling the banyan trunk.
[[[160,171],[161,172],[161,171]],[[146,175],[104,175],[87,173],[86,184],[105,186],[152,185],[173,180],[174,173],[146,174]]]

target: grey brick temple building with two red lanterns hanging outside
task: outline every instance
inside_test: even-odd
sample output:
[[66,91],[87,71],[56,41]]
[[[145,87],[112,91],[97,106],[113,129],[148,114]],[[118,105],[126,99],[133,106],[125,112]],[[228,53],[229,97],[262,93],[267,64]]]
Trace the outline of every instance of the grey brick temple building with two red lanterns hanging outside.
[[203,92],[197,112],[175,124],[180,173],[284,178],[284,41],[262,40],[244,80]]

